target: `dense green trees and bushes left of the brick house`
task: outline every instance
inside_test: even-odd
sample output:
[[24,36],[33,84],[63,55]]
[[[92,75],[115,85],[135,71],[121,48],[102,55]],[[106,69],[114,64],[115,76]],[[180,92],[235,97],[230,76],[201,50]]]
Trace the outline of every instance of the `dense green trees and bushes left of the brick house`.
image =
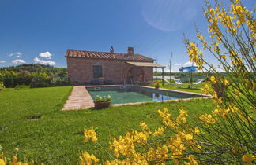
[[0,68],[0,80],[6,87],[24,84],[32,87],[66,86],[66,68],[55,68],[43,64],[22,64]]

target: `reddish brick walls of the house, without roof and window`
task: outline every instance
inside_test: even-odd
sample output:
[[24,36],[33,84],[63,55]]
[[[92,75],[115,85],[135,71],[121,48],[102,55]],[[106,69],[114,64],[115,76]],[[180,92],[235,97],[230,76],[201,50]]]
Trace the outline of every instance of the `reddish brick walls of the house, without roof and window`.
[[[105,80],[113,80],[117,84],[122,84],[128,77],[128,71],[134,66],[126,64],[125,61],[100,60],[67,57],[67,70],[70,83],[74,85],[83,85],[90,83],[92,80],[100,80],[93,77],[92,66],[101,65],[102,75]],[[144,68],[145,82],[152,82],[152,68]]]

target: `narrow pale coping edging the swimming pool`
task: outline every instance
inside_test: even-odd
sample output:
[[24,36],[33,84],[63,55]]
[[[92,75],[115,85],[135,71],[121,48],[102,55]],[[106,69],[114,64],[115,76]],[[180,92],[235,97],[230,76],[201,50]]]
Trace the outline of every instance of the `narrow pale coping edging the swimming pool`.
[[[123,86],[122,84],[119,85],[93,85],[93,86],[85,86],[85,90],[87,90],[87,87],[115,87],[115,86]],[[121,104],[113,104],[111,105],[112,107],[118,107],[122,105],[141,105],[141,104],[148,104],[148,103],[154,103],[154,102],[171,102],[171,101],[190,101],[190,100],[195,100],[195,99],[208,99],[208,98],[213,98],[211,95],[207,94],[200,94],[200,93],[193,93],[193,92],[186,92],[186,91],[181,91],[181,90],[170,90],[170,89],[155,89],[155,87],[152,86],[140,86],[142,88],[148,88],[151,90],[161,90],[161,91],[168,91],[168,92],[175,92],[175,93],[180,93],[180,94],[190,94],[190,95],[196,95],[199,97],[191,97],[191,98],[181,98],[181,99],[173,99],[173,100],[166,100],[166,101],[145,101],[145,102],[135,102],[135,103],[121,103]],[[88,90],[87,90],[88,92]],[[90,95],[91,96],[91,95]]]

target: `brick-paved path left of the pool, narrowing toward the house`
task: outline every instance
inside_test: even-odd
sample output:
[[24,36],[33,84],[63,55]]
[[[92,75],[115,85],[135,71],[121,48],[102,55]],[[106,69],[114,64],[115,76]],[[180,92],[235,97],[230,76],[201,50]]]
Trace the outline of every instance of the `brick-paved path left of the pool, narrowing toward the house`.
[[73,86],[69,99],[62,110],[78,110],[94,107],[94,103],[85,86]]

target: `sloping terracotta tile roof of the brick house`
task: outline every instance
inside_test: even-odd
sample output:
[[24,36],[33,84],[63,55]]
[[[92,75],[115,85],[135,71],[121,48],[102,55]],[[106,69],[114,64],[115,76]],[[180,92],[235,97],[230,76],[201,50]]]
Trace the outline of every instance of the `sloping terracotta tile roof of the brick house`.
[[128,53],[110,53],[110,52],[97,52],[85,50],[67,50],[65,57],[81,57],[90,59],[105,59],[105,60],[120,60],[120,61],[148,61],[152,62],[154,59],[145,57],[141,54],[128,54]]

